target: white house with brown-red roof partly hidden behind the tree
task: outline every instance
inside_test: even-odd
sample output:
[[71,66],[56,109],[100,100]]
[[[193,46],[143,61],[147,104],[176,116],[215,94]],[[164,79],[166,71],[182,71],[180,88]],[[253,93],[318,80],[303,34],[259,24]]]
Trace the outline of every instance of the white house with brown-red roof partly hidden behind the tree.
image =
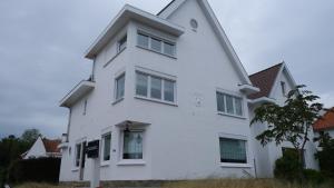
[[[296,87],[289,70],[285,62],[278,63],[257,73],[249,76],[253,85],[261,89],[259,92],[248,96],[249,98],[249,117],[254,117],[254,110],[263,102],[275,102],[283,106],[287,99],[287,93]],[[273,177],[276,159],[283,156],[284,150],[292,149],[289,142],[283,142],[276,146],[275,142],[269,142],[265,147],[255,139],[256,136],[266,130],[266,123],[256,122],[250,126],[253,135],[253,148],[255,155],[256,174],[257,177],[266,178]],[[318,164],[314,158],[316,152],[316,145],[312,141],[314,137],[313,131],[310,132],[311,141],[307,142],[304,151],[305,168],[318,169]]]

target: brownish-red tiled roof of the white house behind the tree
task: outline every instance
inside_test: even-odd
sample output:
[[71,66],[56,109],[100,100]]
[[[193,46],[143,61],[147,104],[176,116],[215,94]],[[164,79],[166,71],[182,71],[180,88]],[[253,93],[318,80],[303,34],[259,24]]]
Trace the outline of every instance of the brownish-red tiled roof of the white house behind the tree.
[[259,88],[259,92],[248,96],[249,99],[257,99],[261,97],[269,97],[272,88],[275,83],[276,77],[283,63],[269,67],[265,70],[249,76],[253,86]]

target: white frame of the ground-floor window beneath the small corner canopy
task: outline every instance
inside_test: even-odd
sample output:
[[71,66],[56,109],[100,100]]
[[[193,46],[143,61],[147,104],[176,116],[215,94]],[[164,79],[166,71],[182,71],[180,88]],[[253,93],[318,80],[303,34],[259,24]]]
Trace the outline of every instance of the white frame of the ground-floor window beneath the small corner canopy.
[[124,131],[125,129],[120,129],[120,137],[119,137],[119,161],[118,166],[143,166],[146,165],[145,158],[146,158],[146,130],[144,128],[136,128],[130,129],[129,131],[132,132],[143,132],[143,159],[124,159]]

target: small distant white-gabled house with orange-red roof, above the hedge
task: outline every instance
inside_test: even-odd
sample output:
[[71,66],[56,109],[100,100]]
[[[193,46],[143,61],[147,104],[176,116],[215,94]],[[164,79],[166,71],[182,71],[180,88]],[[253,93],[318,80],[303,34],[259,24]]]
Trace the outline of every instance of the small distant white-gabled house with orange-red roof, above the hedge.
[[58,146],[61,140],[49,140],[47,138],[38,137],[32,147],[21,155],[22,159],[56,157],[60,158],[61,152]]

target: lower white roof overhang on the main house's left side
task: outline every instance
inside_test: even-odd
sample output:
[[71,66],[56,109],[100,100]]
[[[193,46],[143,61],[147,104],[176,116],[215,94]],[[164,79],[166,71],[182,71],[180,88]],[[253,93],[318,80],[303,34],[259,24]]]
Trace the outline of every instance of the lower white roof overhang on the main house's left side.
[[81,81],[79,82],[67,96],[60,101],[60,107],[71,107],[75,102],[86,96],[88,92],[94,90],[95,82]]

